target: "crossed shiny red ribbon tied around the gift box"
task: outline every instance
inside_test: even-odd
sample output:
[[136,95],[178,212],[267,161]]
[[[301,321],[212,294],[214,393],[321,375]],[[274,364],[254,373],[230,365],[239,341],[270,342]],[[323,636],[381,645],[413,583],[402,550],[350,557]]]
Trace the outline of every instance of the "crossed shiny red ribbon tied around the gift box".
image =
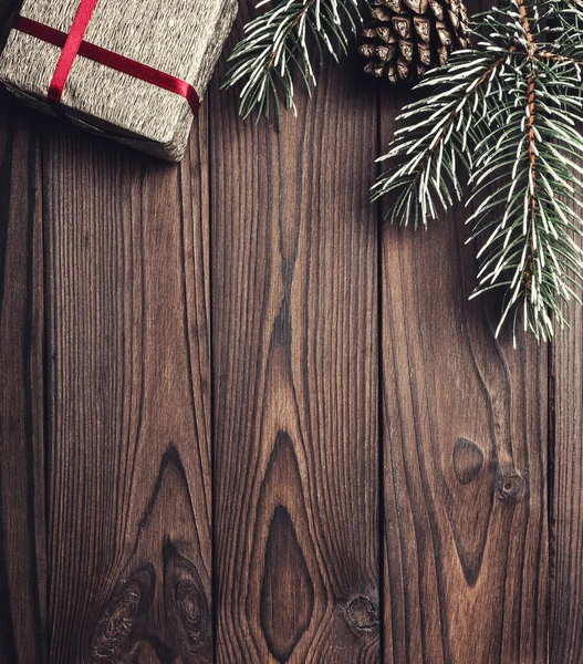
[[196,114],[200,107],[200,100],[190,83],[83,40],[97,1],[81,0],[69,34],[25,17],[19,17],[14,23],[15,30],[62,49],[49,87],[49,100],[58,104],[61,102],[75,58],[81,55],[185,97],[190,104],[192,113]]

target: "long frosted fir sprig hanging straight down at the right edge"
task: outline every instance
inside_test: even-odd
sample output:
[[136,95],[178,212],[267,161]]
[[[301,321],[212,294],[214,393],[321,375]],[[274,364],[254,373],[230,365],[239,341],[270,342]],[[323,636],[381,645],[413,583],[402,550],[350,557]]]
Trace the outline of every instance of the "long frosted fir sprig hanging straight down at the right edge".
[[[472,184],[492,179],[498,184],[468,219],[476,220],[470,239],[487,236],[472,297],[492,288],[506,290],[498,331],[509,315],[516,329],[522,308],[524,329],[549,339],[552,315],[564,323],[560,302],[579,300],[583,253],[573,236],[581,235],[582,221],[573,204],[583,194],[574,172],[583,169],[572,157],[583,157],[583,141],[574,128],[581,108],[581,101],[556,94],[555,84],[548,85],[543,74],[525,76],[506,126],[488,148],[479,146],[485,156],[477,163]],[[566,151],[556,142],[558,132],[569,139]],[[480,194],[476,191],[468,203]],[[497,210],[503,210],[501,219]]]

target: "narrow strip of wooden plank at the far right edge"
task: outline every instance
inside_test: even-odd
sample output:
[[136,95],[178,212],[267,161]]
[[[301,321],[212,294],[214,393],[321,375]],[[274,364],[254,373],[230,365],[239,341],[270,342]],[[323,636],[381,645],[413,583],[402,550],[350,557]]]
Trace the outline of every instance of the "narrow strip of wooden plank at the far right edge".
[[583,311],[572,303],[570,330],[556,334],[551,476],[550,662],[583,662]]

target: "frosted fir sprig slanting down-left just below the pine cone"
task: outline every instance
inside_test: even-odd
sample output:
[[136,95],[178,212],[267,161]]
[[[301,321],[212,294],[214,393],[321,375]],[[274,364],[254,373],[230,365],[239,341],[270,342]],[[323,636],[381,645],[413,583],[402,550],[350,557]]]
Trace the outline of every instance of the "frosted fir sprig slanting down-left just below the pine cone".
[[[480,104],[485,98],[481,93],[485,86],[488,91],[497,87],[497,75],[510,52],[511,48],[491,49],[477,58],[476,51],[460,51],[446,68],[429,72],[416,86],[418,91],[437,87],[438,93],[406,106],[397,117],[397,124],[405,126],[395,132],[392,149],[377,159],[391,159],[396,165],[372,188],[373,200],[395,194],[386,212],[391,222],[417,227],[420,221],[427,226],[454,199],[461,200],[458,166],[470,169],[468,145],[476,141],[476,113],[480,112],[478,117],[483,121],[490,111]],[[407,124],[412,118],[415,124]]]

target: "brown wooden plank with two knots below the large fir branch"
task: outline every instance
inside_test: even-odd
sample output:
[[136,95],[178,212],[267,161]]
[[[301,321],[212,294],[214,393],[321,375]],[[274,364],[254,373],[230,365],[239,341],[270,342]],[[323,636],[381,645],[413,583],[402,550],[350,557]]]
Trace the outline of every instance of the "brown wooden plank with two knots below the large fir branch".
[[468,302],[467,235],[382,228],[385,661],[542,664],[548,351]]

